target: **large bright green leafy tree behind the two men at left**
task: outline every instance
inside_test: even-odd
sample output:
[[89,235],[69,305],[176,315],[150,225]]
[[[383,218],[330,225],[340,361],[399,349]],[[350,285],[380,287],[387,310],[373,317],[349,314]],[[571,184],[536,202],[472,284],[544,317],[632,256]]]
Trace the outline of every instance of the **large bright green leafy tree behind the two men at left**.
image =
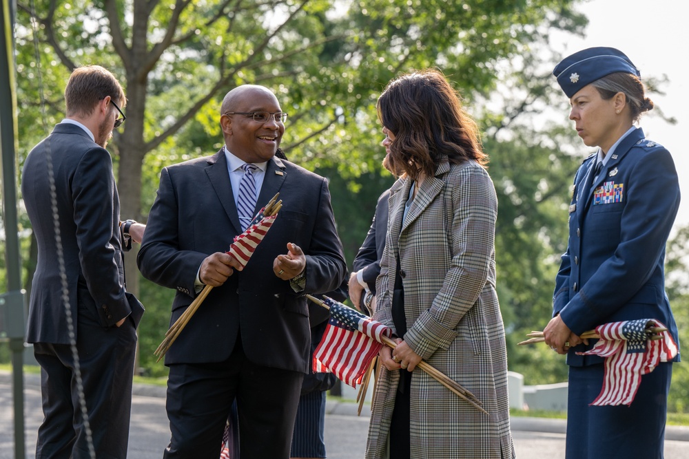
[[[438,66],[470,100],[487,96],[506,75],[504,63],[528,53],[529,43],[547,43],[552,28],[582,30],[586,20],[574,3],[18,1],[20,160],[63,116],[71,70],[103,65],[119,76],[128,98],[127,121],[110,147],[122,214],[145,220],[161,167],[222,145],[216,111],[225,92],[263,84],[290,114],[282,143],[289,158],[329,175],[338,189],[333,206],[353,255],[387,187],[355,180],[364,174],[387,182],[375,109],[387,81],[402,70]],[[363,202],[370,212],[362,213]],[[134,258],[126,257],[129,273],[136,272]],[[127,280],[136,292],[138,277]],[[162,336],[153,329],[167,326],[169,292],[142,287],[144,356],[155,347],[147,348],[149,341]]]

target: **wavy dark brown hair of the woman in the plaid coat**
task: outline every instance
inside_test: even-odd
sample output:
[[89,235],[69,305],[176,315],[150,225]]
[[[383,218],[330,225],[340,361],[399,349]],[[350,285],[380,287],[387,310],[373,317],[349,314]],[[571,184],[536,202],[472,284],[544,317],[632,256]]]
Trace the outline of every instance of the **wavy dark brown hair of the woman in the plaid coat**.
[[395,136],[390,160],[412,179],[435,175],[447,158],[460,164],[488,157],[476,122],[462,108],[460,95],[439,70],[426,69],[394,78],[378,98],[378,117]]

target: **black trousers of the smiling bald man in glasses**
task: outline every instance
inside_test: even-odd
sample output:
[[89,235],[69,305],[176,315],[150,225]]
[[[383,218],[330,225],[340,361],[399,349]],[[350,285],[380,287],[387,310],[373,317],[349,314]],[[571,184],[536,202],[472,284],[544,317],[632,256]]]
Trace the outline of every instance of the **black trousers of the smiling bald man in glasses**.
[[240,345],[218,363],[170,365],[165,459],[218,459],[237,401],[240,458],[287,459],[304,374],[251,363]]

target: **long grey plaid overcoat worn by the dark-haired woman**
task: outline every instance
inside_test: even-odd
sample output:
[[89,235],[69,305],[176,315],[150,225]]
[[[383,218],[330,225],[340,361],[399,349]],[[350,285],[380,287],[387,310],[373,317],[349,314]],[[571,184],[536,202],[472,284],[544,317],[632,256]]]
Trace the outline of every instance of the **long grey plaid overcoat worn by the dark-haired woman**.
[[[391,188],[375,319],[395,330],[391,306],[397,259],[404,285],[404,341],[482,402],[479,412],[423,370],[411,378],[411,457],[514,458],[505,332],[495,292],[497,197],[475,161],[441,162],[404,219],[411,180]],[[399,372],[384,367],[371,407],[366,458],[388,457]]]

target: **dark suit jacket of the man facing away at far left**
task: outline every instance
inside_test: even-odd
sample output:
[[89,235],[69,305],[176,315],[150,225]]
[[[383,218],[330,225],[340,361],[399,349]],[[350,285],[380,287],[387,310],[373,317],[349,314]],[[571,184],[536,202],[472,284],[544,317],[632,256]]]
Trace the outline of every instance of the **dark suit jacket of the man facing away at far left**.
[[[103,327],[128,314],[138,325],[143,306],[125,292],[120,203],[110,154],[81,127],[61,123],[32,149],[22,173],[21,192],[39,246],[26,341],[70,342],[52,218],[48,155],[54,171],[72,317],[76,318],[79,305],[92,310]],[[73,325],[76,329],[76,320]]]

